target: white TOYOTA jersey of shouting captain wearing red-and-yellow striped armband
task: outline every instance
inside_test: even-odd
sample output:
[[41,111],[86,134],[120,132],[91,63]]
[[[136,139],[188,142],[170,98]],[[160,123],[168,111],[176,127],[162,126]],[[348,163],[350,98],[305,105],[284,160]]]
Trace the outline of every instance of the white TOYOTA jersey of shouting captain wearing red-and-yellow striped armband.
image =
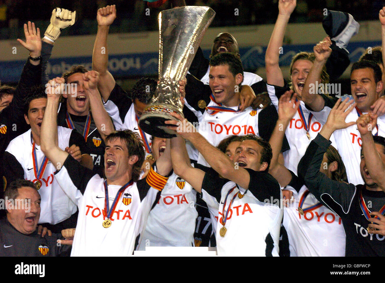
[[[102,225],[107,219],[103,178],[77,166],[70,156],[55,178],[59,184],[65,184],[65,192],[79,207],[71,256],[132,255],[141,241],[151,206],[160,193],[147,184],[147,178],[124,189],[108,228]],[[108,186],[110,208],[120,188]]]

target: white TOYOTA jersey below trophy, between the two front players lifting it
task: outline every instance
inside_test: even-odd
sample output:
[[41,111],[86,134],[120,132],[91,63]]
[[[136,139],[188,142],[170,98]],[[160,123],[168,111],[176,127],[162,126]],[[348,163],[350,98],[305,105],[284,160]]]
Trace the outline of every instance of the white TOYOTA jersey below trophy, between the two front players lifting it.
[[173,173],[151,209],[139,250],[146,246],[193,246],[196,191]]

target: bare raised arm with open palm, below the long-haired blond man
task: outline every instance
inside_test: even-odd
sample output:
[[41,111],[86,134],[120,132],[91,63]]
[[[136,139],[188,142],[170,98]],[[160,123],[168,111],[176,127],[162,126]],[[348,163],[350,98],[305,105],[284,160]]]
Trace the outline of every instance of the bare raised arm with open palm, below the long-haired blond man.
[[285,92],[285,94],[280,97],[278,104],[278,120],[269,140],[271,150],[273,151],[269,173],[278,181],[278,183],[280,183],[281,187],[285,187],[289,184],[292,176],[290,171],[278,162],[278,157],[281,153],[285,130],[300,105],[299,101],[295,102],[297,95],[294,94],[291,97],[291,94],[293,94],[293,90]]

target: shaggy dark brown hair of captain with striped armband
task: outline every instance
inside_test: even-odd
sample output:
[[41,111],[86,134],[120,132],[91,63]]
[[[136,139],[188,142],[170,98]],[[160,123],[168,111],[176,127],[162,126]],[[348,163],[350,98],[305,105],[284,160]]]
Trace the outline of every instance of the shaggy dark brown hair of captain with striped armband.
[[108,141],[112,141],[116,138],[126,141],[129,156],[138,156],[138,161],[132,166],[132,179],[134,180],[134,182],[136,182],[141,174],[141,168],[145,155],[142,139],[138,133],[133,132],[131,130],[124,130],[115,131],[109,134],[105,138],[105,143],[107,144]]

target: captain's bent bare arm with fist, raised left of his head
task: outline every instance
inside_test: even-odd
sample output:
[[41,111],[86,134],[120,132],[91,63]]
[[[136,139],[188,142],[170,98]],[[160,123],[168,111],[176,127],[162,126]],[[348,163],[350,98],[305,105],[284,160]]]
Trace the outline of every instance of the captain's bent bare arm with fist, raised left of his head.
[[41,149],[57,170],[61,169],[69,155],[68,152],[60,149],[55,142],[55,137],[57,137],[57,109],[62,92],[60,84],[64,84],[64,82],[63,78],[53,79],[48,82],[49,86],[46,88],[47,106],[45,107],[40,132]]

